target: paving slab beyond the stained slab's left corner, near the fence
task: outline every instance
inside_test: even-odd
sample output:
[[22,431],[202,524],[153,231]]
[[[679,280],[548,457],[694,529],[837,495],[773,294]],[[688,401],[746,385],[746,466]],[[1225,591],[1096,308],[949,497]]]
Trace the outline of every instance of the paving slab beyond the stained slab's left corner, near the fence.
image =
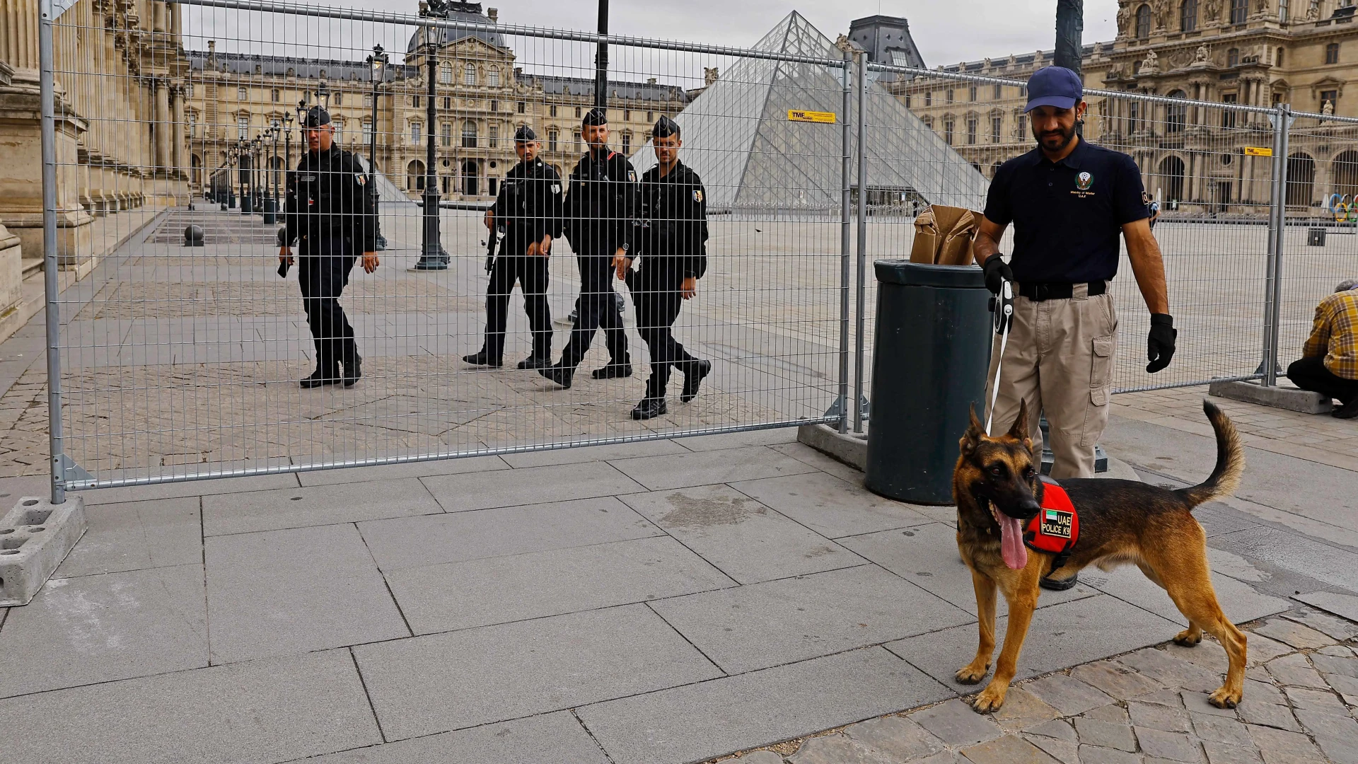
[[545,504],[637,493],[645,488],[607,462],[549,465],[477,474],[422,477],[444,510],[463,513],[490,507]]

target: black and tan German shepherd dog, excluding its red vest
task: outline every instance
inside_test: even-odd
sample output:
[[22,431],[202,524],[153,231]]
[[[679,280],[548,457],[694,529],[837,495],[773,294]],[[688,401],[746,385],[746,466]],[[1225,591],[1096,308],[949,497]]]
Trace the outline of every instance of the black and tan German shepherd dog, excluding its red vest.
[[1221,612],[1207,572],[1207,536],[1192,517],[1203,502],[1229,496],[1240,484],[1245,459],[1230,419],[1203,401],[1203,411],[1217,434],[1217,466],[1211,476],[1192,488],[1169,491],[1131,480],[1065,480],[1080,515],[1080,537],[1061,567],[1051,570],[1055,555],[1029,551],[1023,534],[1027,522],[1042,504],[1043,484],[1038,480],[1038,458],[1028,436],[1028,408],[1020,405],[1019,419],[999,438],[985,435],[975,411],[963,435],[961,455],[952,474],[957,503],[957,551],[971,568],[976,590],[980,644],[976,657],[957,670],[957,681],[976,684],[990,670],[995,650],[995,587],[1009,602],[1009,629],[995,665],[995,676],[972,708],[994,711],[1005,701],[1014,677],[1019,651],[1038,605],[1038,580],[1063,580],[1089,564],[1108,571],[1135,564],[1156,582],[1188,619],[1188,628],[1175,642],[1186,647],[1202,642],[1207,632],[1221,642],[1230,659],[1226,682],[1209,700],[1219,708],[1240,703],[1245,676],[1245,635]]

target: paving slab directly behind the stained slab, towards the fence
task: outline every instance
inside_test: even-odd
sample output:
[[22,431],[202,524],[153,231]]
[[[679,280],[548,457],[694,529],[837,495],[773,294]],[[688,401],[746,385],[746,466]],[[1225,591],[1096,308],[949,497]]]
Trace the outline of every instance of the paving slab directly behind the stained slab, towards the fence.
[[610,464],[650,491],[816,470],[766,446],[614,459]]

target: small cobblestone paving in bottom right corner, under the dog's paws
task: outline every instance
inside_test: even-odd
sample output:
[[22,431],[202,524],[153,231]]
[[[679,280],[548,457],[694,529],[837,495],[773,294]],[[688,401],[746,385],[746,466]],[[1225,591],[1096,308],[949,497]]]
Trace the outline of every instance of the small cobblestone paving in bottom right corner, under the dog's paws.
[[[1350,598],[1358,604],[1358,598]],[[1348,764],[1358,761],[1358,624],[1313,608],[1247,625],[1237,708],[1217,708],[1226,654],[1173,643],[1014,685],[979,715],[964,700],[891,714],[727,764]]]

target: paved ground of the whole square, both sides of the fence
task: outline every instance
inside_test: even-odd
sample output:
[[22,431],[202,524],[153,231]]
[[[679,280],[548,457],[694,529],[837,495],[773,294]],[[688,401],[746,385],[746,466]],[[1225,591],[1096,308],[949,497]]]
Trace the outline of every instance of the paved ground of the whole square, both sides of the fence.
[[[107,449],[117,474],[128,454],[162,469],[202,454],[334,458],[335,443],[373,454],[640,432],[625,419],[640,379],[561,393],[449,363],[475,349],[478,277],[418,287],[399,228],[388,237],[395,285],[356,288],[356,318],[376,321],[361,299],[373,294],[401,307],[383,321],[413,313],[456,332],[405,325],[388,353],[368,351],[359,387],[312,398],[292,382],[310,347],[296,285],[266,269],[268,253],[251,256],[272,279],[262,291],[232,250],[191,256],[225,258],[210,265],[136,262],[182,257],[167,249],[105,265],[144,287],[140,302],[95,299],[129,288],[96,272],[68,290],[69,314],[91,317],[72,337],[99,340],[68,343],[84,359],[69,379],[91,396],[68,435]],[[558,288],[564,315],[573,292]],[[94,317],[155,294],[170,295],[162,315]],[[751,294],[743,310],[773,299]],[[430,318],[459,295],[464,310]],[[686,330],[709,352],[725,343],[729,371],[648,434],[819,413],[830,383],[808,385],[788,359],[832,368],[837,303],[824,325],[789,309],[765,328],[735,307],[744,298],[712,299],[731,302],[691,306]],[[250,341],[247,318],[259,322]],[[202,340],[168,333],[185,326]],[[39,315],[0,344],[4,502],[46,492],[42,337]],[[508,358],[527,351],[516,341]],[[1116,397],[1104,446],[1119,473],[1200,480],[1214,459],[1192,409],[1202,394]],[[477,406],[500,408],[449,419]],[[952,508],[875,496],[782,428],[81,492],[88,533],[33,604],[0,609],[0,763],[1355,761],[1351,423],[1224,408],[1248,470],[1237,496],[1196,517],[1222,605],[1251,631],[1233,712],[1202,703],[1225,669],[1219,647],[1165,644],[1181,617],[1134,568],[1044,593],[1009,703],[966,710],[975,688],[952,673],[975,648],[975,604]],[[295,416],[263,427],[278,411]],[[261,435],[221,427],[240,416]]]

